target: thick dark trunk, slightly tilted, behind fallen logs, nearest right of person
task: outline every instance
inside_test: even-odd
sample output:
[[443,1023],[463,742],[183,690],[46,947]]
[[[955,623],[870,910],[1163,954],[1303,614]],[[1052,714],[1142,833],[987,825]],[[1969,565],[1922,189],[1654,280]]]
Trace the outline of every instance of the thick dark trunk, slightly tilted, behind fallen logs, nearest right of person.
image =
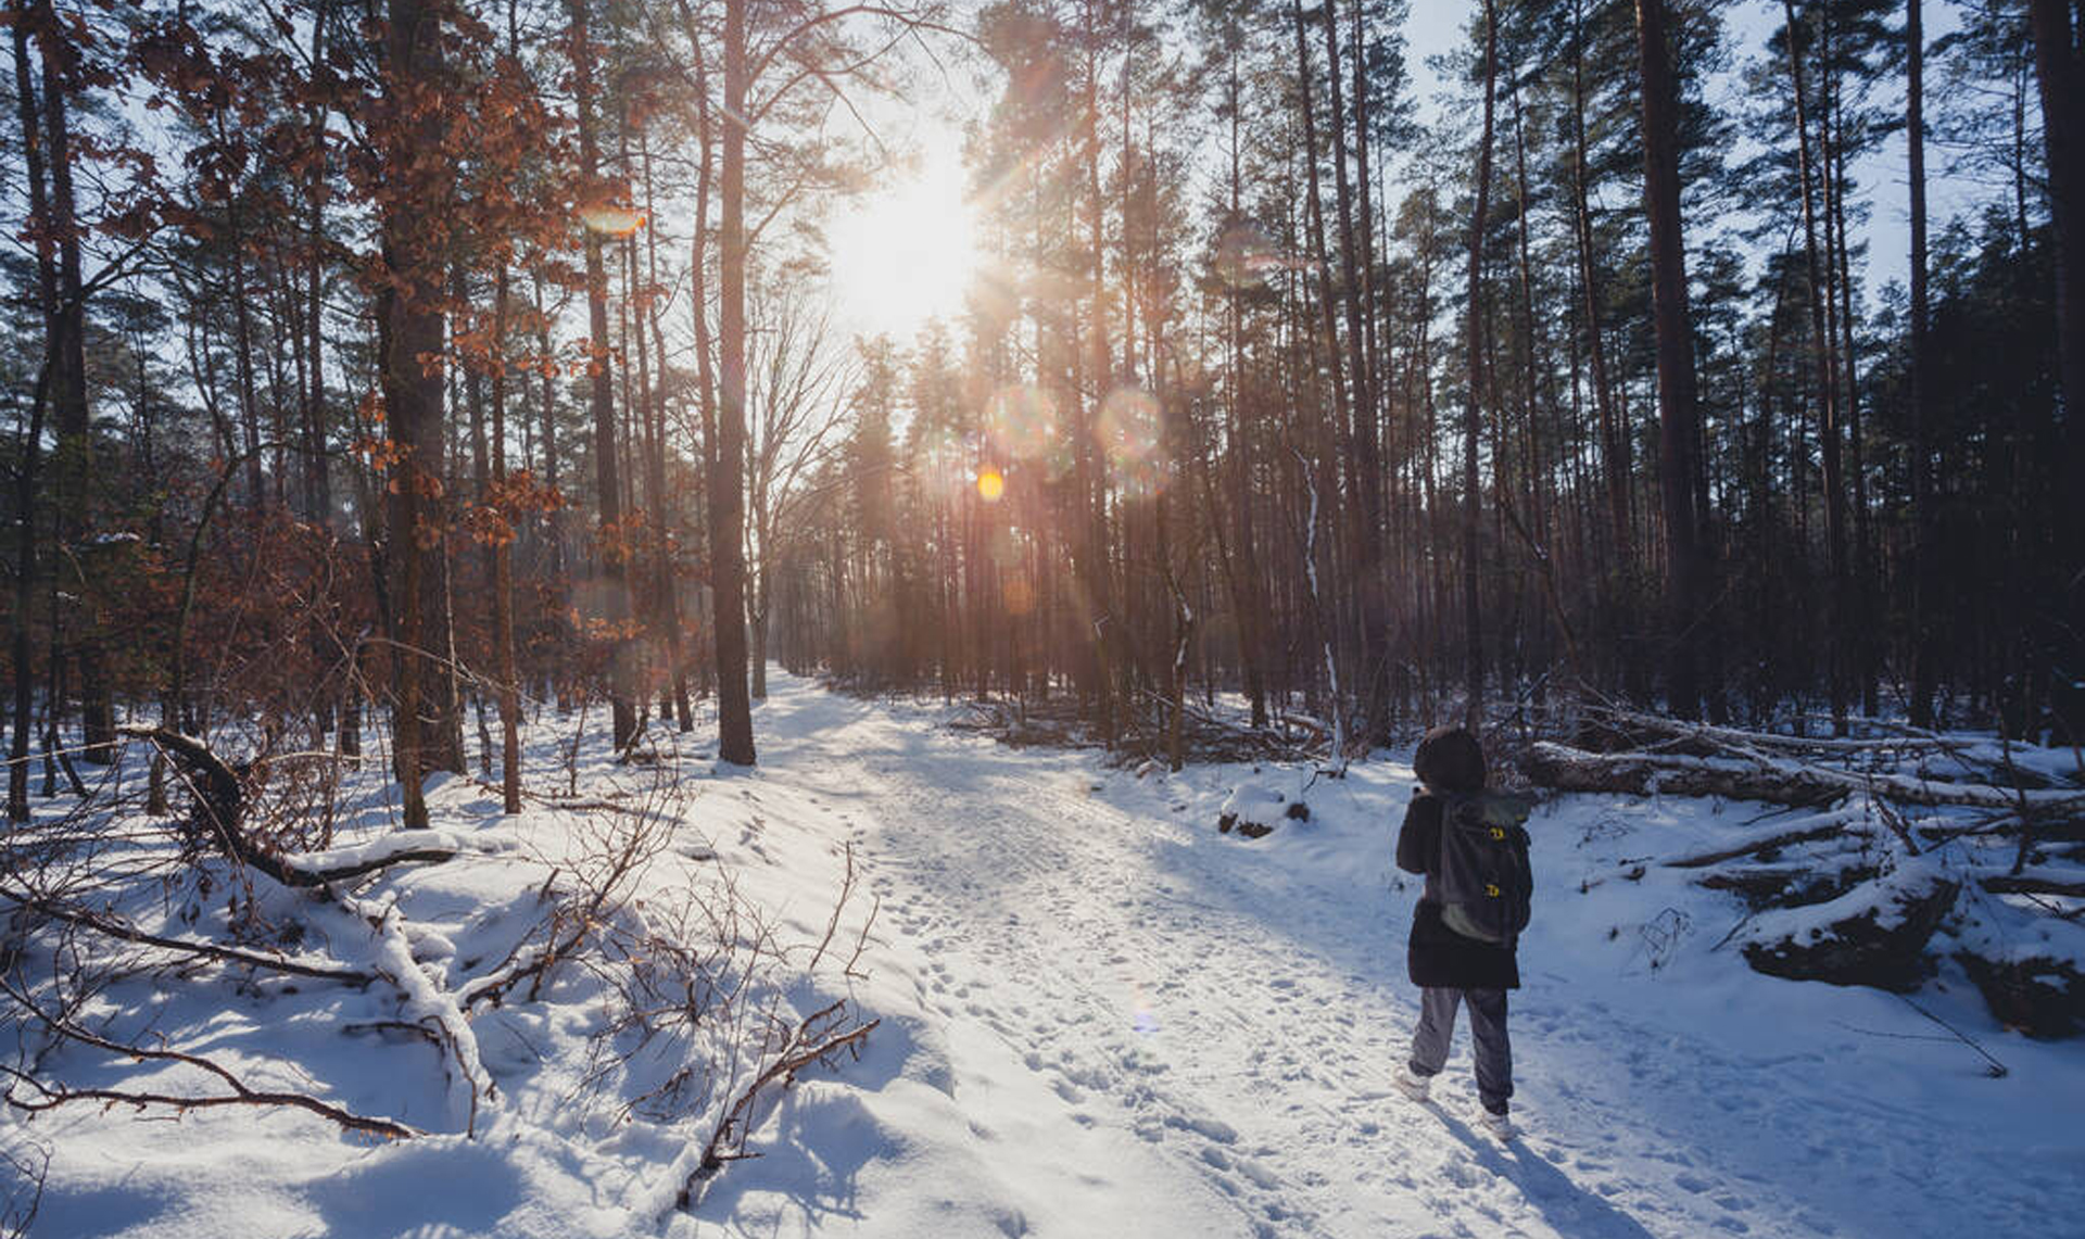
[[1643,67],[1643,209],[1651,223],[1651,307],[1658,327],[1658,484],[1666,515],[1666,705],[1699,718],[1701,540],[1695,486],[1701,413],[1695,407],[1687,250],[1681,242],[1678,86],[1664,0],[1637,0]]

